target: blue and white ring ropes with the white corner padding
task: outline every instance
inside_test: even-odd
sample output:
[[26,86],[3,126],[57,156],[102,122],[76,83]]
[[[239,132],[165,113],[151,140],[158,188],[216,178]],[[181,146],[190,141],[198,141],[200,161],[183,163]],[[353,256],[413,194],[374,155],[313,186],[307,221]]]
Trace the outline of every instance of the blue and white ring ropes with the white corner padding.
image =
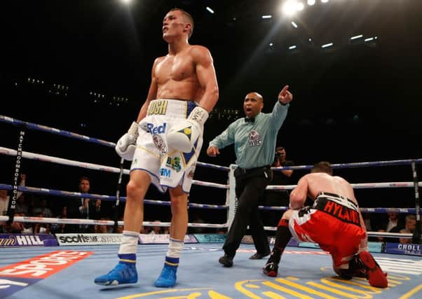
[[[37,125],[34,123],[27,123],[23,122],[21,120],[16,120],[15,118],[9,118],[7,116],[1,116],[0,115],[0,122],[3,123],[11,123],[13,125],[18,125],[20,127],[25,127],[31,130],[39,130],[43,132],[49,132],[52,134],[58,134],[64,137],[70,137],[73,139],[79,139],[95,144],[101,144],[104,146],[114,147],[116,144],[109,141],[104,141],[102,139],[95,139],[92,137],[84,136],[81,134],[76,134],[73,132],[67,132],[64,130],[55,129],[53,127],[47,127],[44,125]],[[15,151],[11,148],[4,148],[0,147],[0,153],[4,155],[12,155],[17,156],[19,154],[19,151]],[[32,160],[40,160],[43,162],[53,162],[56,164],[61,165],[69,165],[74,167],[82,167],[86,169],[94,169],[94,170],[100,170],[104,172],[112,172],[112,173],[119,173],[121,172],[121,169],[116,167],[109,167],[104,165],[95,165],[93,163],[88,162],[79,162],[74,160],[68,160],[63,158],[56,158],[48,155],[41,155],[37,153],[29,153],[21,151],[22,158],[32,159]],[[352,167],[379,167],[379,166],[386,166],[386,165],[408,165],[411,164],[412,167],[416,163],[421,163],[422,159],[416,159],[416,160],[389,160],[389,161],[374,161],[374,162],[353,162],[353,163],[340,163],[340,164],[333,164],[332,168],[352,168]],[[208,168],[214,168],[224,171],[229,171],[229,185],[219,184],[219,183],[211,183],[211,182],[204,182],[204,181],[196,181],[193,180],[193,184],[200,185],[200,186],[209,186],[214,188],[222,188],[222,189],[228,189],[228,196],[231,198],[226,199],[226,203],[229,202],[229,205],[212,205],[212,204],[193,204],[189,203],[189,207],[196,207],[196,208],[204,208],[204,209],[227,209],[229,207],[229,215],[228,215],[228,221],[224,224],[212,224],[212,223],[189,223],[189,226],[193,227],[210,227],[209,225],[212,225],[211,227],[217,227],[217,228],[226,228],[231,225],[231,222],[233,221],[233,215],[234,215],[234,206],[233,203],[235,202],[233,197],[234,194],[234,188],[230,188],[230,186],[234,186],[234,176],[233,176],[233,169],[236,169],[236,165],[231,165],[230,167],[223,167],[219,165],[211,165],[208,163],[198,162],[198,165]],[[290,167],[271,167],[271,169],[275,171],[280,171],[282,169],[311,169],[313,165],[301,165],[301,166],[290,166]],[[129,174],[128,169],[123,169],[123,174]],[[387,182],[387,183],[353,183],[351,184],[353,188],[357,189],[364,189],[364,188],[415,188],[415,193],[417,195],[418,187],[422,186],[421,182],[417,181],[416,177],[416,170],[414,170],[414,182]],[[268,186],[268,190],[291,190],[296,185],[289,185],[289,186]],[[13,186],[6,185],[6,184],[0,184],[0,188],[4,188],[6,190],[13,190]],[[34,188],[34,187],[24,187],[24,186],[18,186],[18,190],[22,192],[27,193],[37,193],[37,194],[49,194],[49,195],[58,195],[58,196],[66,196],[66,197],[86,197],[86,198],[93,198],[93,199],[102,199],[102,200],[116,200],[118,197],[116,196],[109,196],[109,195],[94,195],[94,194],[87,194],[87,193],[72,193],[62,190],[50,190],[45,188]],[[418,199],[418,198],[417,198]],[[121,197],[121,200],[125,200],[125,197]],[[144,200],[147,204],[163,204],[163,205],[170,205],[170,202],[166,201],[159,201],[159,200]],[[233,207],[232,207],[233,206]],[[259,209],[266,209],[266,210],[286,210],[287,207],[263,207],[259,206]],[[361,208],[361,211],[367,211],[372,213],[385,213],[388,211],[396,211],[399,213],[416,213],[416,216],[419,216],[419,209],[418,209],[418,202],[416,202],[416,208],[415,209],[402,209],[402,208]],[[0,221],[8,220],[8,216],[0,216]],[[418,218],[420,219],[420,218]],[[101,224],[101,225],[114,225],[116,224],[115,221],[94,221],[90,219],[61,219],[61,218],[42,218],[42,217],[15,217],[16,221],[24,221],[24,222],[39,222],[39,223],[74,223],[74,224]],[[63,222],[59,222],[63,221]],[[123,221],[118,221],[118,224],[121,225]],[[156,225],[156,226],[169,226],[170,223],[157,223],[157,222],[150,222],[150,221],[144,221],[144,225]],[[217,226],[214,226],[217,225]],[[272,227],[266,227],[268,230],[275,230],[275,228]],[[388,237],[411,237],[411,234],[391,234],[386,232],[368,232],[368,235],[379,236],[383,235]],[[390,234],[390,235],[389,235]]]

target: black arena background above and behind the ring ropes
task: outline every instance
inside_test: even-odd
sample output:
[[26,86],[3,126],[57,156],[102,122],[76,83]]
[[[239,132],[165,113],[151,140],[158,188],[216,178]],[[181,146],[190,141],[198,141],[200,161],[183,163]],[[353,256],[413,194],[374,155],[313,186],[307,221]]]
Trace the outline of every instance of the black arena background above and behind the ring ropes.
[[[154,59],[167,54],[161,22],[177,6],[196,20],[190,43],[210,49],[219,81],[217,111],[205,126],[200,161],[234,162],[233,147],[208,158],[208,141],[236,119],[233,111],[243,116],[247,92],[260,92],[269,112],[285,84],[294,102],[278,145],[296,165],[421,158],[422,1],[331,0],[314,6],[305,1],[304,11],[293,17],[280,13],[282,3],[3,1],[0,114],[115,142],[137,117]],[[271,20],[261,19],[269,14]],[[377,39],[350,41],[357,34]],[[320,47],[329,42],[334,46]],[[289,50],[292,45],[297,49]],[[0,146],[15,148],[18,129],[1,123],[0,132]],[[24,150],[115,167],[119,161],[113,148],[35,131],[27,132]],[[0,161],[0,181],[11,183],[13,158],[1,155]],[[87,175],[93,193],[116,190],[116,174],[29,160],[23,167],[28,186],[75,191],[79,177]],[[335,173],[352,183],[411,181],[408,165]],[[295,171],[293,181],[302,174]],[[200,181],[226,183],[225,178],[197,167]],[[192,189],[191,202],[224,204],[224,190]],[[363,207],[414,205],[411,189],[356,193]],[[168,198],[151,190],[147,198],[163,196]],[[147,220],[161,213],[153,208],[147,207]]]

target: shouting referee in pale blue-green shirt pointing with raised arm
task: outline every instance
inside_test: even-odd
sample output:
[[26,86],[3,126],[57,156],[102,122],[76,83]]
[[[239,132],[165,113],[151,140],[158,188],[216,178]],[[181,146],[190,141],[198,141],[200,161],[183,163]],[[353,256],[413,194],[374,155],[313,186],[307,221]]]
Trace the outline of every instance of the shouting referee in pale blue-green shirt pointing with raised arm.
[[219,150],[234,144],[236,165],[236,197],[238,207],[224,243],[224,256],[219,263],[224,267],[233,265],[233,258],[250,225],[257,253],[251,259],[261,259],[270,254],[268,239],[259,216],[259,198],[273,178],[270,165],[274,160],[278,130],[287,116],[293,99],[286,85],[278,94],[271,113],[261,113],[264,101],[257,92],[250,92],[243,101],[245,118],[240,118],[215,137],[207,148],[207,155],[215,157]]

